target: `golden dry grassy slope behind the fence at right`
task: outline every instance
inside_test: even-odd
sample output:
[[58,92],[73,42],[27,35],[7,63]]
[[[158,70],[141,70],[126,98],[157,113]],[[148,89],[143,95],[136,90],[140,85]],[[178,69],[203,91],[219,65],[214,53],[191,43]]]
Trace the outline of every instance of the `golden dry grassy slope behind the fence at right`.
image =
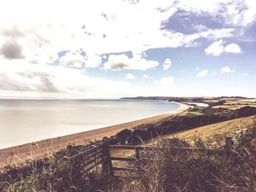
[[193,128],[188,131],[181,131],[175,134],[169,134],[163,138],[178,137],[188,142],[193,142],[197,137],[203,140],[209,147],[219,147],[225,145],[225,136],[230,135],[236,141],[241,131],[246,131],[247,127],[252,126],[256,115],[247,118],[238,118],[235,120],[227,120],[222,123],[215,123],[209,126]]

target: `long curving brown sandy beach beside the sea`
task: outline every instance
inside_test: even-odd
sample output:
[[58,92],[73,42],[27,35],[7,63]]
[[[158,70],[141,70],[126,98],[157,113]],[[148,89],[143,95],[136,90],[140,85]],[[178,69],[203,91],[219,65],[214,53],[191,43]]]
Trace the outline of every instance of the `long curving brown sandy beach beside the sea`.
[[31,159],[42,158],[44,155],[50,155],[53,152],[72,145],[85,145],[89,141],[99,140],[103,137],[110,137],[117,134],[125,128],[133,128],[143,123],[161,123],[162,121],[173,118],[174,116],[184,112],[189,107],[186,104],[180,104],[180,107],[172,112],[157,115],[151,118],[135,120],[127,123],[121,123],[105,128],[98,128],[91,131],[84,131],[78,134],[70,134],[64,137],[56,137],[53,139],[45,139],[38,142],[26,143],[15,147],[8,147],[0,150],[0,166],[8,164],[18,165]]

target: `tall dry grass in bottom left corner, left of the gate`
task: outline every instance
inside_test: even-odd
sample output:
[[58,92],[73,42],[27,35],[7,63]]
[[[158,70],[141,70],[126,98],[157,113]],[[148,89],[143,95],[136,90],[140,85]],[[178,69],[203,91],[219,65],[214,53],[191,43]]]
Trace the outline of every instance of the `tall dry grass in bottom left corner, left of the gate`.
[[105,185],[101,167],[82,174],[83,161],[65,161],[65,150],[21,167],[6,167],[0,174],[0,191],[94,191]]

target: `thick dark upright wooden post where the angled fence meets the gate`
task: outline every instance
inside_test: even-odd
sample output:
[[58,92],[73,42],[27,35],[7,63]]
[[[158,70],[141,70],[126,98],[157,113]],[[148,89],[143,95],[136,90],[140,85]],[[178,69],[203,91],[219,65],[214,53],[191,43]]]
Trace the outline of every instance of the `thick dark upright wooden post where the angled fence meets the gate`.
[[111,156],[110,156],[110,141],[109,140],[105,140],[104,141],[105,144],[103,145],[103,150],[102,150],[102,154],[103,154],[103,172],[109,172],[110,176],[113,176],[113,165],[112,165],[112,161],[111,161]]

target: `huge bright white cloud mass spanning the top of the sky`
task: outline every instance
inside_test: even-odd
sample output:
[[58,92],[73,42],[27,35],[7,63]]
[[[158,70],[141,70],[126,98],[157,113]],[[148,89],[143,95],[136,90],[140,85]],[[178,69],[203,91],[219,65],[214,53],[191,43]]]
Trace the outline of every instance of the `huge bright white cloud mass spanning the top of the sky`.
[[[232,26],[217,29],[200,27],[195,34],[167,30],[167,21],[179,10],[187,15],[194,12],[198,16],[213,17],[217,17],[220,12],[227,13],[222,18],[228,20],[223,23],[231,22],[229,20],[234,15],[242,18],[238,21],[241,20],[243,25],[255,20],[255,4],[249,0],[244,1],[247,7],[241,7],[231,0],[164,0],[157,3],[145,0],[136,3],[95,0],[90,3],[77,1],[75,4],[72,1],[61,1],[61,9],[59,3],[50,0],[39,3],[32,0],[4,2],[0,8],[0,54],[5,58],[53,63],[63,50],[83,50],[90,55],[129,50],[132,53],[143,53],[152,48],[195,46],[195,40],[200,38],[220,39],[236,34],[237,30]],[[227,5],[233,8],[227,9]],[[237,14],[241,8],[241,14]],[[233,12],[233,9],[236,11]],[[48,50],[46,55],[43,54],[45,50]],[[100,66],[99,60],[91,60],[86,66]]]

